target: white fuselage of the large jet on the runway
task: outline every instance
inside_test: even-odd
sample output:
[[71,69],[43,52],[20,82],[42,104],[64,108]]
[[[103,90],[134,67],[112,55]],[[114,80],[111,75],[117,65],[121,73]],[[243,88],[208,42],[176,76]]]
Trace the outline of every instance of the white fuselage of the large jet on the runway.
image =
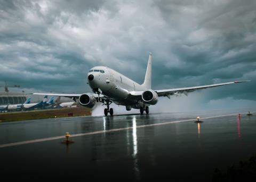
[[[93,75],[92,80],[89,79],[90,75]],[[120,105],[130,105],[134,108],[139,108],[143,104],[130,97],[129,92],[143,91],[146,88],[121,73],[99,66],[93,67],[87,76],[88,83],[94,93],[101,92],[103,95],[113,98],[114,102]]]

